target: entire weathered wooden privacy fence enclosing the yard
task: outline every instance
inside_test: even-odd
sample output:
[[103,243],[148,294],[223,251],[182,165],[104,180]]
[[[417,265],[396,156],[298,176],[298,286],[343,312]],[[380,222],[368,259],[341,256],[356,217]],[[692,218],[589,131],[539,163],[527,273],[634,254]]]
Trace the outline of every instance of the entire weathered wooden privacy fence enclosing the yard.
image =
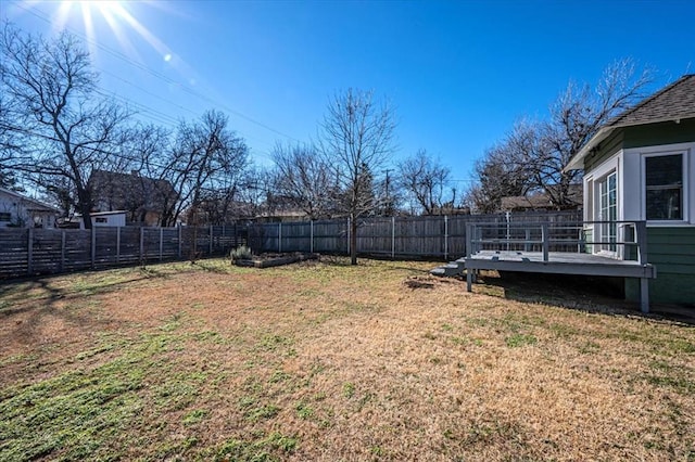
[[[357,252],[454,259],[466,255],[468,223],[497,223],[500,235],[491,238],[510,239],[507,233],[516,231],[507,231],[506,223],[563,227],[581,219],[581,211],[365,218],[357,227]],[[242,244],[254,253],[348,254],[350,228],[348,219],[248,227],[0,228],[0,279],[222,256]]]

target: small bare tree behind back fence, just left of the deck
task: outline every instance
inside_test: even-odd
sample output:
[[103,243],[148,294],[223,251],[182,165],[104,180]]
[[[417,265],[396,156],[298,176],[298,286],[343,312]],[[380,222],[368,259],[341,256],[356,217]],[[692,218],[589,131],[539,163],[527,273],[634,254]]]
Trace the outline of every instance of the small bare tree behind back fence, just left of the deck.
[[444,203],[450,202],[444,194],[451,192],[446,188],[451,170],[425,150],[400,163],[397,168],[399,185],[417,203],[422,214],[441,214]]

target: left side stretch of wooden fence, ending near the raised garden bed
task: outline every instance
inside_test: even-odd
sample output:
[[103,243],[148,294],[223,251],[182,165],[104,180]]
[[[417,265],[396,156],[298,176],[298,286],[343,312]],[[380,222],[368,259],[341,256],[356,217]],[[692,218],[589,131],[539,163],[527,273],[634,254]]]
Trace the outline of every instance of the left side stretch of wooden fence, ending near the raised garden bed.
[[0,228],[0,278],[227,255],[245,228]]

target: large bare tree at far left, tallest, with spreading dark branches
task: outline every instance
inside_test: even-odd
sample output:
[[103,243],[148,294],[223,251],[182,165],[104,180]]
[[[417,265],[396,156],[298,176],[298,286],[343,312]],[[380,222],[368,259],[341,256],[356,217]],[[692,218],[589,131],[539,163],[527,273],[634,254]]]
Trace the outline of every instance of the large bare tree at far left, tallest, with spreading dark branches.
[[89,55],[71,35],[47,41],[5,25],[0,37],[2,91],[11,101],[7,119],[26,144],[26,156],[14,162],[47,190],[55,183],[70,191],[91,228],[91,196],[87,180],[92,169],[114,157],[114,142],[128,114],[96,95],[98,75]]

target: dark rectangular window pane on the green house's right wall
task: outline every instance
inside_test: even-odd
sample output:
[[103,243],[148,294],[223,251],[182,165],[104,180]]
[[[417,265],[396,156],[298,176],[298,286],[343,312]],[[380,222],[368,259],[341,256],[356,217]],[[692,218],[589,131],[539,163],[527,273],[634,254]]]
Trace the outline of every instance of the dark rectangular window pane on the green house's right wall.
[[644,167],[647,220],[682,220],[683,154],[645,157]]

